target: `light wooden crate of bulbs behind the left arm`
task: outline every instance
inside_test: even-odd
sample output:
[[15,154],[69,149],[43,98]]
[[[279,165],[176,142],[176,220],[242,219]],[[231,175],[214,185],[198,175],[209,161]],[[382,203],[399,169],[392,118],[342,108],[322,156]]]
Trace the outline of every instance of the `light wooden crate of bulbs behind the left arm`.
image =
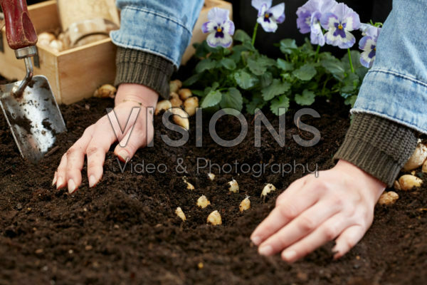
[[[231,4],[226,1],[206,0],[194,28],[194,37],[184,53],[183,63],[194,54],[192,44],[206,38],[206,35],[201,33],[201,25],[207,21],[208,11],[213,6],[232,10]],[[28,12],[37,33],[53,31],[60,27],[55,0],[28,6]],[[1,37],[3,48],[0,46],[0,74],[4,78],[21,80],[26,73],[25,64],[17,60],[14,51],[7,46],[4,28],[1,30]],[[71,104],[89,98],[98,86],[114,82],[117,48],[110,38],[58,53],[40,45],[37,47],[34,74],[48,78],[58,103]]]

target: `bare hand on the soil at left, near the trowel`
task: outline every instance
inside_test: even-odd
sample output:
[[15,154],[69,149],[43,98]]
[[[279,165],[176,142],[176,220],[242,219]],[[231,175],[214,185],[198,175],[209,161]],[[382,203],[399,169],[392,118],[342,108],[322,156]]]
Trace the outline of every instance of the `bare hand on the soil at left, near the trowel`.
[[[107,115],[90,125],[82,137],[63,155],[53,177],[53,185],[56,185],[57,189],[68,186],[68,192],[75,192],[82,182],[81,171],[87,155],[89,187],[94,187],[102,178],[105,154],[117,139],[120,142],[127,140],[127,144],[125,147],[117,145],[115,155],[122,162],[130,160],[139,147],[147,146],[154,138],[152,124],[154,114],[147,112],[147,107],[155,108],[157,100],[158,95],[152,89],[138,84],[121,84],[117,90],[114,111],[120,125],[124,127],[127,124],[125,131],[122,133],[116,125],[113,130]],[[139,103],[142,103],[142,106]],[[133,108],[141,108],[136,120],[130,118]]]

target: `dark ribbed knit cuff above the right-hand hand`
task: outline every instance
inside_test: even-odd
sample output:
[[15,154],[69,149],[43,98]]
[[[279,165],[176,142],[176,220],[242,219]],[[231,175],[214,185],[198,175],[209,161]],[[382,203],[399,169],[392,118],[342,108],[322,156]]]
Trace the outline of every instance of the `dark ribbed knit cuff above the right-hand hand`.
[[334,161],[347,160],[391,187],[416,148],[413,130],[376,115],[354,115]]

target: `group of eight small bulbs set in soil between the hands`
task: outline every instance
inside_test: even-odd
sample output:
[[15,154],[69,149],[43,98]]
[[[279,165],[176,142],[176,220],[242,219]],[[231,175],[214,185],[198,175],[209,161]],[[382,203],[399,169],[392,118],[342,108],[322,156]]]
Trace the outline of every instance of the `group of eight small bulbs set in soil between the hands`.
[[[211,181],[215,179],[215,175],[213,173],[209,173],[208,177],[209,177],[209,180]],[[192,191],[195,189],[194,185],[188,182],[185,176],[182,177],[182,180],[184,180],[187,190]],[[273,184],[265,185],[263,192],[261,192],[261,197],[265,198],[270,192],[274,192],[275,190],[276,190],[276,187]],[[231,193],[238,193],[239,187],[238,187],[238,182],[236,180],[233,179],[230,182],[228,182],[228,191]],[[251,200],[249,198],[250,197],[246,196],[246,198],[243,199],[243,201],[239,205],[240,212],[245,212],[246,210],[251,209]],[[208,207],[210,204],[211,202],[205,195],[201,195],[201,197],[199,197],[199,199],[197,199],[197,202],[196,202],[196,206],[202,209]],[[180,219],[182,219],[183,222],[186,221],[186,216],[184,214],[184,211],[182,211],[181,207],[176,208],[175,214]],[[214,226],[222,224],[221,214],[219,214],[218,210],[214,210],[213,212],[211,212],[211,214],[209,214],[209,216],[206,219],[206,222],[208,222],[208,224],[213,224]]]

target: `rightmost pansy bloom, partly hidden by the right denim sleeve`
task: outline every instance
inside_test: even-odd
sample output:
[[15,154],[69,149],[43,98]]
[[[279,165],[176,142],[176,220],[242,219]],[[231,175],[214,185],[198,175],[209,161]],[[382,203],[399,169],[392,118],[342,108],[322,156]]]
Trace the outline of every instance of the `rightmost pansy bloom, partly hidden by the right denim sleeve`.
[[363,51],[360,54],[362,66],[371,68],[376,56],[376,41],[378,41],[381,28],[369,24],[362,24],[360,28],[364,37],[359,41],[359,48]]

